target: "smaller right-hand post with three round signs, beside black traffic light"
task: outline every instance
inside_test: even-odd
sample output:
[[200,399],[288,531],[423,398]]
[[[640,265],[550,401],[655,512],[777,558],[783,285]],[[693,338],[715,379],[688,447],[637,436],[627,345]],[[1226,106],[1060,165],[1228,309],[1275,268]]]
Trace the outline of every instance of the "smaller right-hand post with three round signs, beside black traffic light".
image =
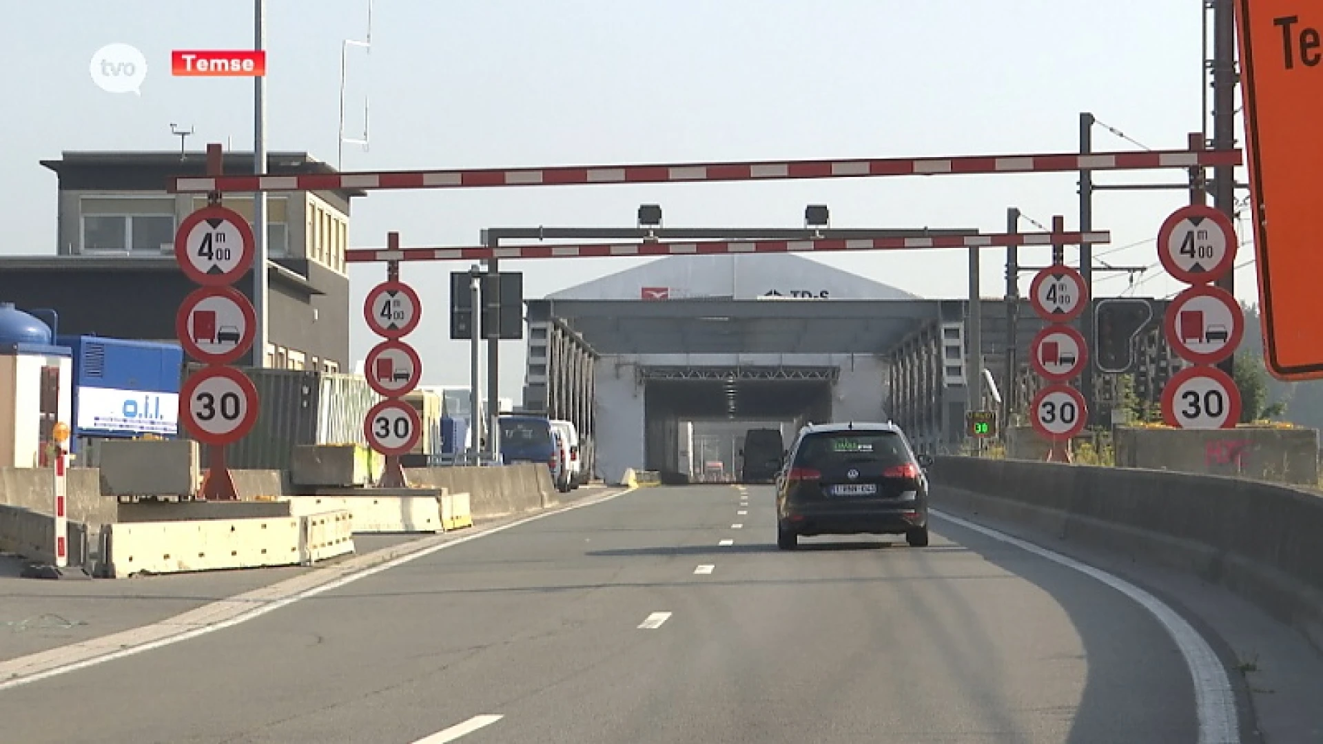
[[1070,323],[1089,306],[1089,287],[1080,271],[1053,263],[1029,285],[1033,311],[1048,322],[1029,344],[1029,364],[1048,387],[1029,404],[1029,421],[1048,442],[1049,462],[1070,462],[1070,440],[1089,422],[1084,395],[1068,383],[1089,364],[1089,344]]

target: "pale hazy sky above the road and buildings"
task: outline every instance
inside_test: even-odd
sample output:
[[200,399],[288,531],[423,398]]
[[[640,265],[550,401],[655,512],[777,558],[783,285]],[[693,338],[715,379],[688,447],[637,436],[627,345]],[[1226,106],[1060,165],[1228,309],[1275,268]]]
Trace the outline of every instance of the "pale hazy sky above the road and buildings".
[[[267,146],[335,164],[340,57],[363,40],[368,0],[270,0]],[[499,168],[665,162],[860,159],[1073,152],[1078,115],[1105,126],[1095,150],[1183,148],[1201,127],[1201,0],[377,0],[370,52],[351,50],[344,169]],[[5,254],[53,254],[56,176],[37,162],[65,150],[176,150],[171,123],[208,142],[253,147],[251,79],[172,78],[172,49],[251,48],[253,4],[177,0],[5,0],[12,29],[0,116]],[[140,95],[98,89],[89,61],[112,42],[140,49]],[[1121,132],[1121,136],[1114,132]],[[1099,183],[1180,183],[1184,173],[1101,173]],[[1078,225],[1077,176],[648,184],[372,192],[355,201],[351,246],[472,245],[492,226],[631,226],[643,203],[667,226],[802,226],[827,204],[835,228],[1004,232],[1008,207],[1040,225]],[[1114,266],[1098,297],[1170,297],[1155,238],[1184,191],[1106,192],[1095,250]],[[1249,224],[1241,222],[1241,241]],[[1023,229],[1035,229],[1025,222]],[[1035,250],[1041,252],[1037,257]],[[1049,249],[1021,252],[1045,262]],[[1077,262],[1074,248],[1068,262]],[[1257,301],[1246,245],[1237,295]],[[931,298],[967,294],[964,252],[815,257]],[[984,297],[1004,289],[1004,253],[982,262]],[[570,287],[639,259],[503,262],[527,297]],[[423,297],[409,336],[429,384],[466,384],[467,344],[448,340],[447,275],[462,263],[409,263]],[[351,269],[355,307],[384,277]],[[1021,278],[1021,291],[1029,275]],[[351,318],[357,318],[352,312]],[[352,355],[374,338],[355,323]],[[524,342],[501,343],[501,395],[519,400]]]

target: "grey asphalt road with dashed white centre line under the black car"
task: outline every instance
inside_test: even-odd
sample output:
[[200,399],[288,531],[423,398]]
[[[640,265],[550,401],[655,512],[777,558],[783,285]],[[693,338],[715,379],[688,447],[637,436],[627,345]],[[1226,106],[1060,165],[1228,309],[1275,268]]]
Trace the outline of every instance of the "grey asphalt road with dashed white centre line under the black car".
[[0,740],[1197,740],[1183,657],[1115,589],[942,522],[777,551],[746,492],[644,488],[0,691]]

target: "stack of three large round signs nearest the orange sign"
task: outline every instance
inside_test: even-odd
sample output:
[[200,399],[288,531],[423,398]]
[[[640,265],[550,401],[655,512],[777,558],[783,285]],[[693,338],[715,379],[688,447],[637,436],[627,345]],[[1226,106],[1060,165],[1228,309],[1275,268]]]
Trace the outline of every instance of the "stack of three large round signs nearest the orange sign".
[[1191,285],[1171,301],[1163,331],[1176,356],[1193,363],[1163,388],[1163,421],[1177,429],[1234,429],[1240,391],[1230,375],[1212,365],[1236,353],[1245,336],[1240,303],[1213,286],[1233,270],[1236,229],[1216,209],[1181,207],[1158,230],[1158,258],[1167,273]]

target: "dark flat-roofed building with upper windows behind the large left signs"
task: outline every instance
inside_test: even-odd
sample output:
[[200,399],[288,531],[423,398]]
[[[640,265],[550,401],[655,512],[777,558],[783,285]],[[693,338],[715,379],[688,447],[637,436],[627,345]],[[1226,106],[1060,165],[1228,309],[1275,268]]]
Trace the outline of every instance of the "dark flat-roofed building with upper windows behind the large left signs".
[[[175,315],[196,286],[173,257],[175,229],[205,205],[165,191],[171,176],[204,175],[202,152],[65,152],[42,160],[58,176],[56,256],[0,258],[0,299],[52,308],[58,332],[173,342]],[[251,172],[253,155],[226,152],[225,172]],[[306,152],[274,152],[267,172],[331,173]],[[266,365],[339,372],[349,364],[349,201],[357,191],[267,196]],[[225,207],[251,221],[253,197]],[[249,298],[253,277],[237,285]],[[254,353],[257,349],[254,349]],[[246,363],[251,364],[250,356]]]

